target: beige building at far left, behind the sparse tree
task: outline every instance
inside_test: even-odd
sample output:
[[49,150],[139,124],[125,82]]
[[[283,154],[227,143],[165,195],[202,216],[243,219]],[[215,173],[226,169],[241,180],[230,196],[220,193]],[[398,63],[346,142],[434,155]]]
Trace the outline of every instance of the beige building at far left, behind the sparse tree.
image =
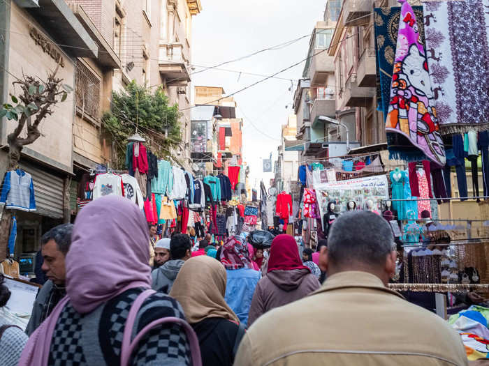
[[[64,1],[0,2],[0,99],[17,95],[12,84],[22,75],[45,80],[58,67],[57,77],[74,86],[78,58],[95,58],[99,47]],[[72,47],[60,47],[71,45]],[[15,255],[36,252],[41,234],[55,224],[70,220],[69,195],[73,176],[74,93],[58,102],[53,113],[40,125],[41,137],[24,146],[19,167],[31,174],[34,183],[36,211],[14,211],[17,219]],[[89,112],[95,113],[94,110]],[[7,136],[17,122],[0,121],[0,176],[8,167]],[[21,133],[21,136],[24,132]],[[6,243],[0,243],[3,260]]]

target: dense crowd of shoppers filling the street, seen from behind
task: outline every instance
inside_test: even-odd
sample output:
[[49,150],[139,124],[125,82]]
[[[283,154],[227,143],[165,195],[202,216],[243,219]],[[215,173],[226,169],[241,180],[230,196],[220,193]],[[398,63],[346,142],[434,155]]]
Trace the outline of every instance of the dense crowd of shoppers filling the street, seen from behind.
[[195,254],[187,235],[151,234],[115,196],[44,234],[27,334],[1,316],[0,283],[0,365],[467,365],[443,319],[386,287],[396,252],[379,215],[341,215],[302,258],[285,234],[267,253],[232,236]]

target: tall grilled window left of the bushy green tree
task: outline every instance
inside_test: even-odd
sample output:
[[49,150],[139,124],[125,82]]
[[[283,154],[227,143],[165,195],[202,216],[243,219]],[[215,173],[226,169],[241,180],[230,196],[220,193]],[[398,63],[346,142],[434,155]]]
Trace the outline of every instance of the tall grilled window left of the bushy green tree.
[[82,115],[98,121],[100,79],[85,64],[78,62],[75,72],[75,103]]

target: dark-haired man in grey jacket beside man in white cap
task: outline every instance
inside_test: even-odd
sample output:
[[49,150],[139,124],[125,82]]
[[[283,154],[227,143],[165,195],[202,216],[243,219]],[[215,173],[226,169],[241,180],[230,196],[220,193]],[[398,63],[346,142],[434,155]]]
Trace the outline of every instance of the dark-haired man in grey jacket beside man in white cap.
[[191,241],[188,235],[176,234],[170,241],[170,257],[163,266],[151,273],[152,288],[156,291],[169,293],[177,274],[187,259],[191,257]]

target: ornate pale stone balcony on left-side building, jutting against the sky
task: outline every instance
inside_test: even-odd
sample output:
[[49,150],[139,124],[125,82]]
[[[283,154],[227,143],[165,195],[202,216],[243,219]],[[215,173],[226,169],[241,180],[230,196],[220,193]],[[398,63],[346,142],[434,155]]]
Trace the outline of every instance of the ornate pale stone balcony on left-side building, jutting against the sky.
[[159,45],[159,72],[166,78],[167,84],[186,86],[190,82],[188,60],[182,43]]

